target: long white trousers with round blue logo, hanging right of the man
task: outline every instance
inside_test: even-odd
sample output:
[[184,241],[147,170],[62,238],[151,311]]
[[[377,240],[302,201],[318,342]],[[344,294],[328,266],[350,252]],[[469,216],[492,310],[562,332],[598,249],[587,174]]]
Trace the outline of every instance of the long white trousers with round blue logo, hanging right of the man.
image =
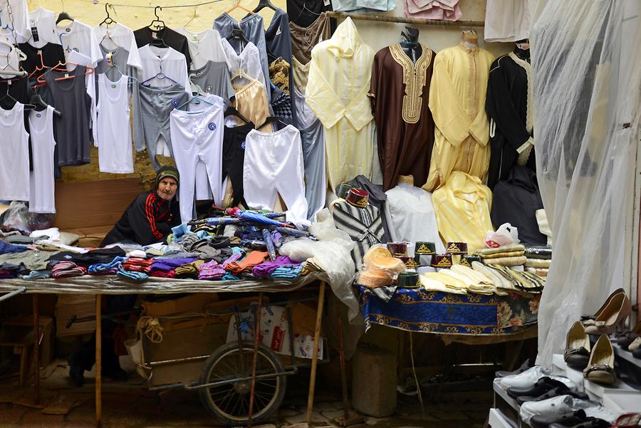
[[214,104],[199,112],[173,110],[171,113],[170,130],[174,161],[180,172],[178,199],[183,223],[193,218],[199,161],[207,169],[214,202],[221,202],[223,110],[222,105]]

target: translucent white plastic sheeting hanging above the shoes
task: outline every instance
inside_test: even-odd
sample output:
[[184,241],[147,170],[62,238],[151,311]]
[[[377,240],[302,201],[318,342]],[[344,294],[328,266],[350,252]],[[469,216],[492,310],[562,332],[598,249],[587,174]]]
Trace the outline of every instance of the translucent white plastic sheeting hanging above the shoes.
[[624,25],[637,0],[531,1],[537,176],[554,237],[538,362],[550,366],[580,315],[630,288],[641,34]]

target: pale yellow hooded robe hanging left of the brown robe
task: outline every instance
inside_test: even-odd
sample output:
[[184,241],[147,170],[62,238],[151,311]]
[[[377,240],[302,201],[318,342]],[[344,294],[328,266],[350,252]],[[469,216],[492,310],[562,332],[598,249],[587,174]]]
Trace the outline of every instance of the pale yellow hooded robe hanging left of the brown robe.
[[368,98],[374,50],[350,18],[314,46],[305,102],[323,123],[330,187],[372,175],[374,125]]

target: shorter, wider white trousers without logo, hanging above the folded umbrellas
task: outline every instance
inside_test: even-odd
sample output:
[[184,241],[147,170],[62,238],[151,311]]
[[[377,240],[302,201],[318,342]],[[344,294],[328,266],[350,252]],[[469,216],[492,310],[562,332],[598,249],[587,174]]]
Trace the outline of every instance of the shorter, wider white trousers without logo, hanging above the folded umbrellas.
[[301,133],[292,125],[276,132],[251,130],[245,139],[244,196],[249,207],[273,210],[281,194],[287,219],[307,220]]

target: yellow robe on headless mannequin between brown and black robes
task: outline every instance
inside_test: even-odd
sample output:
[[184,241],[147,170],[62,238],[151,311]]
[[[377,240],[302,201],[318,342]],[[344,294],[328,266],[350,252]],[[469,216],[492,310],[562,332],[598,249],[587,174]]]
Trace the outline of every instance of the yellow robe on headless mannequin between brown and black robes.
[[459,43],[434,59],[429,109],[434,116],[434,149],[423,189],[433,192],[462,171],[485,181],[489,166],[489,120],[485,95],[494,56]]

